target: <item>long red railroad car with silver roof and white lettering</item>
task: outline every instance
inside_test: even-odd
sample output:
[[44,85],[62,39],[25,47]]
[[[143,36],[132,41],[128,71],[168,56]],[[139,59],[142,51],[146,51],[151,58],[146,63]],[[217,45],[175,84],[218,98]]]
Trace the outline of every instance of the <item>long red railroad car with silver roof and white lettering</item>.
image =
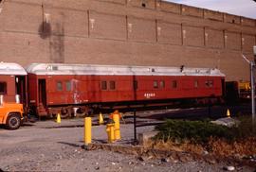
[[221,97],[218,69],[33,63],[27,67],[30,107],[39,116],[103,106]]

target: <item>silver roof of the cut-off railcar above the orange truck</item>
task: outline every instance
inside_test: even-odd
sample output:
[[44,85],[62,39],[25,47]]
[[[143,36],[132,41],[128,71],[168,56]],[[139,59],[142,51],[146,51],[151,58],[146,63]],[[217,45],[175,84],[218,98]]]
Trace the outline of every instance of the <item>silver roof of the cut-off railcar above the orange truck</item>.
[[0,75],[26,76],[26,70],[17,63],[0,62]]

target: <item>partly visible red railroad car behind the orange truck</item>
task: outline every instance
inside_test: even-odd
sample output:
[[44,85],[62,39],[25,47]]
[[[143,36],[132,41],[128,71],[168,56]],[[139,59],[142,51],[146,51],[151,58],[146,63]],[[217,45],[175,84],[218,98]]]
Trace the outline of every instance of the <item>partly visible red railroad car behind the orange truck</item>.
[[16,63],[0,62],[0,95],[6,102],[27,105],[27,72]]

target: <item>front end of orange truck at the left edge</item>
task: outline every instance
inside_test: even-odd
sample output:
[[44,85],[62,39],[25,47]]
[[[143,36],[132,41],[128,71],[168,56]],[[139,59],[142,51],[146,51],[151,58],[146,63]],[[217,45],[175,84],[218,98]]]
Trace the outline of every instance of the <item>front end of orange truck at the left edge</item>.
[[0,124],[8,129],[19,129],[23,117],[23,104],[0,102]]

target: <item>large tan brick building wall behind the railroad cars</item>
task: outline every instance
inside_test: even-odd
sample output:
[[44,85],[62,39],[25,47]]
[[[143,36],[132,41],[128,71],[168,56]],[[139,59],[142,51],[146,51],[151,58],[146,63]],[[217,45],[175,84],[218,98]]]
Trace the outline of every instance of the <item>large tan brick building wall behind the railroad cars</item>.
[[256,21],[160,0],[2,0],[0,60],[218,67],[248,80]]

